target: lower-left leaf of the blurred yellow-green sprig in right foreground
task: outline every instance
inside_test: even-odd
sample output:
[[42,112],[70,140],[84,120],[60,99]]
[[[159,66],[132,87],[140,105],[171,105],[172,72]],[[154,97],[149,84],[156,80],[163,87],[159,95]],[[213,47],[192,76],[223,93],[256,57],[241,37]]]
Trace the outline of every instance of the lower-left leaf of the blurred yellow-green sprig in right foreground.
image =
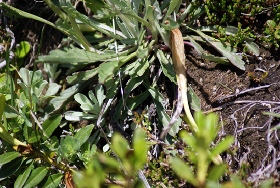
[[195,176],[192,173],[190,167],[186,165],[182,159],[171,157],[170,164],[173,166],[173,169],[178,176],[187,180],[194,186],[198,185],[198,181],[197,179],[195,179]]

